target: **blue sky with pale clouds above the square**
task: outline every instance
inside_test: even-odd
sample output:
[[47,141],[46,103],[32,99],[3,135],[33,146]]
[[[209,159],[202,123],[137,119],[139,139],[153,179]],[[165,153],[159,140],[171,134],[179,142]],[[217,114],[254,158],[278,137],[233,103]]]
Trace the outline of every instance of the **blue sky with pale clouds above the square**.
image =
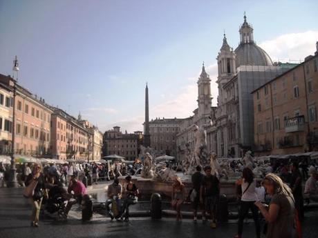
[[216,57],[225,32],[236,48],[247,22],[273,61],[316,51],[318,1],[0,0],[0,73],[102,132],[143,130],[149,117],[185,118],[197,107],[203,61],[218,95]]

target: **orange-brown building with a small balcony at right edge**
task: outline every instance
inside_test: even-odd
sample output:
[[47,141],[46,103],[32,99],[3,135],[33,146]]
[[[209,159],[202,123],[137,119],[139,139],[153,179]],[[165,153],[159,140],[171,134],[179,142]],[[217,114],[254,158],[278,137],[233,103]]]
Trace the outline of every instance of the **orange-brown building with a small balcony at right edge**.
[[260,155],[318,150],[318,43],[306,57],[252,92],[254,144]]

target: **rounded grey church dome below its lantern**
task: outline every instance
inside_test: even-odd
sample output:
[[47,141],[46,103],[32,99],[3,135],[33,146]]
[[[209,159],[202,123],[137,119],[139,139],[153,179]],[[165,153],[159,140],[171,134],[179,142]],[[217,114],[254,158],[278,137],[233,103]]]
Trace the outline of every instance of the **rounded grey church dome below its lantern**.
[[238,66],[272,66],[272,59],[261,47],[252,43],[241,43],[236,49],[236,67]]

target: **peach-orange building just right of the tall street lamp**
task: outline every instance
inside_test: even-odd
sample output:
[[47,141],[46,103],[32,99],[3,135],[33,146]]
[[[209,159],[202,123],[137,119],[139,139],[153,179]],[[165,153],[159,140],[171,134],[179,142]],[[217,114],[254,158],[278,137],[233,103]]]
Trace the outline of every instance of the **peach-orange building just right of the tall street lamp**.
[[[11,77],[0,75],[1,83],[13,87]],[[15,154],[50,157],[50,115],[52,110],[44,99],[16,83]],[[12,103],[13,105],[13,103]]]

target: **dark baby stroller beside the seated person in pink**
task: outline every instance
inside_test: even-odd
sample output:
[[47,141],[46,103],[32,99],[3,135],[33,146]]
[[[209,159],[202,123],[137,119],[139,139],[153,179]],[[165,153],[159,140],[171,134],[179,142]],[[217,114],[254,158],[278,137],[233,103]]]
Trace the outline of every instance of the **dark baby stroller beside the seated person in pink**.
[[66,190],[61,185],[53,186],[48,192],[46,210],[51,214],[57,212],[60,219],[67,219],[64,195]]

